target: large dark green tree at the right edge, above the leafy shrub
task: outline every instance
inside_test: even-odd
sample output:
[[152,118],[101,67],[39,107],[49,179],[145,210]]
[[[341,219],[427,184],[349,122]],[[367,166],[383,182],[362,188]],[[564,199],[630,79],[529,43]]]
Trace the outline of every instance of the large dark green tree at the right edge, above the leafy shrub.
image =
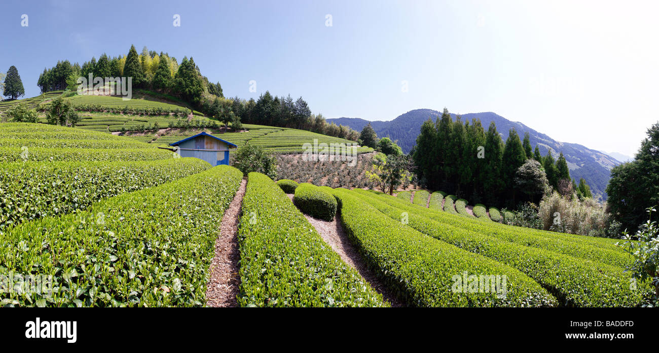
[[646,207],[659,205],[659,123],[648,129],[633,162],[611,170],[606,193],[614,218],[631,233],[645,222]]

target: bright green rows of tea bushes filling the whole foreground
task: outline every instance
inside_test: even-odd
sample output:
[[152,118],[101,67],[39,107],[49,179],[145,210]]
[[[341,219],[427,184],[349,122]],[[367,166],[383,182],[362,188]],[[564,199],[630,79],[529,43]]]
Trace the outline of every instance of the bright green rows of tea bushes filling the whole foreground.
[[[277,141],[298,148],[315,137],[246,128],[223,135],[268,148]],[[1,305],[208,305],[214,241],[244,176],[175,158],[156,148],[163,138],[183,139],[145,143],[85,129],[0,124],[0,271],[53,276],[58,288],[53,296],[0,292]],[[323,174],[345,162],[316,163]],[[380,286],[405,305],[423,307],[637,307],[652,295],[647,283],[629,286],[624,269],[631,257],[616,240],[507,226],[498,210],[475,205],[472,215],[466,200],[441,191],[392,197],[343,189],[337,185],[351,182],[305,179],[313,172],[306,164],[289,170],[299,170],[298,177],[283,178],[299,184],[247,176],[237,212],[236,305],[387,307]],[[303,212],[335,222],[378,286],[343,261]],[[496,277],[496,289],[492,282],[491,290],[455,290],[455,276],[463,274]]]

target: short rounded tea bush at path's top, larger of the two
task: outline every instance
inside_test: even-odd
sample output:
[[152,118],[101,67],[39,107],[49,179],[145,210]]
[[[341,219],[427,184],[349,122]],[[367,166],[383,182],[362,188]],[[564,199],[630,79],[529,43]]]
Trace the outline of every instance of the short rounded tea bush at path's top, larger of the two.
[[331,193],[310,183],[301,183],[295,189],[293,203],[303,213],[327,221],[334,219],[337,209],[336,199]]

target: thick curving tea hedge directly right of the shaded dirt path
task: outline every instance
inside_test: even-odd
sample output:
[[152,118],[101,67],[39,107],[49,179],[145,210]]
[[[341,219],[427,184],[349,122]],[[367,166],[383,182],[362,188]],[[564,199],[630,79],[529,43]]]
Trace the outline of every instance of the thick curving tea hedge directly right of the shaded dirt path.
[[[525,274],[425,236],[403,224],[401,212],[396,219],[391,219],[365,203],[355,191],[335,189],[334,195],[340,200],[341,222],[351,241],[387,286],[408,305],[519,307],[557,304],[554,297]],[[496,292],[454,291],[453,278],[463,276],[465,271],[470,276],[505,275],[505,298],[497,296]]]

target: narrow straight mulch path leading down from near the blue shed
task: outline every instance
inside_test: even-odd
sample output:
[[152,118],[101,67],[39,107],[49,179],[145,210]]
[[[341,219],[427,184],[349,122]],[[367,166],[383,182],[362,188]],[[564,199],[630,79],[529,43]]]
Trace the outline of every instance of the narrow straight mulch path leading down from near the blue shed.
[[210,265],[210,279],[206,286],[206,304],[210,307],[236,307],[241,284],[238,274],[238,224],[243,207],[247,179],[241,181],[233,201],[224,212],[220,234],[215,240],[215,257]]

